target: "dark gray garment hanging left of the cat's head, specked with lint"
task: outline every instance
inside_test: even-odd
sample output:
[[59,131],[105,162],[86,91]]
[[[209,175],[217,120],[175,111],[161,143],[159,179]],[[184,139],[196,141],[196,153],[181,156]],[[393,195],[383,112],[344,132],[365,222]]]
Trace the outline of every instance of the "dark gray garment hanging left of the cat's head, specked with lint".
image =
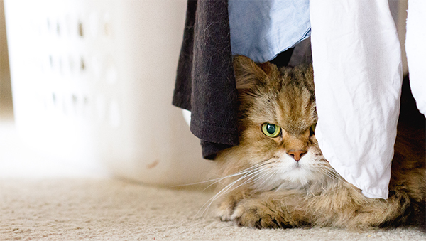
[[228,1],[188,1],[173,105],[191,111],[202,156],[239,144]]

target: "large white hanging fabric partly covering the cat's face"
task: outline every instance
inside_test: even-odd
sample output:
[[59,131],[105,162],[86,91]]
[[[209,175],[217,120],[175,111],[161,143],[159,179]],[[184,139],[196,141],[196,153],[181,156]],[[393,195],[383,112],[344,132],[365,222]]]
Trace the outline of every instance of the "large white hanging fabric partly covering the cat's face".
[[402,83],[388,0],[311,0],[310,22],[320,148],[365,196],[388,198]]

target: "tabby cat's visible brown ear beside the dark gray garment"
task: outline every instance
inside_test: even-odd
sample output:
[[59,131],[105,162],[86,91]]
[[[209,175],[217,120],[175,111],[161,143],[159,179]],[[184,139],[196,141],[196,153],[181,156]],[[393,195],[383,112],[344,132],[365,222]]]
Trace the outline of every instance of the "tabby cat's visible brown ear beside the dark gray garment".
[[256,64],[246,56],[236,55],[234,57],[236,88],[250,89],[253,85],[264,82],[276,69],[277,67],[269,62]]

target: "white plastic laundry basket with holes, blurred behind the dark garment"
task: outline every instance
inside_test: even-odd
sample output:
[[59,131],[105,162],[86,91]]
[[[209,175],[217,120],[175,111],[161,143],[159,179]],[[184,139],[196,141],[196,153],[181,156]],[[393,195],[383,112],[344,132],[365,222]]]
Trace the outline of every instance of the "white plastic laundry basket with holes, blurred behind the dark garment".
[[177,185],[210,164],[171,105],[183,0],[6,0],[18,133],[117,176]]

